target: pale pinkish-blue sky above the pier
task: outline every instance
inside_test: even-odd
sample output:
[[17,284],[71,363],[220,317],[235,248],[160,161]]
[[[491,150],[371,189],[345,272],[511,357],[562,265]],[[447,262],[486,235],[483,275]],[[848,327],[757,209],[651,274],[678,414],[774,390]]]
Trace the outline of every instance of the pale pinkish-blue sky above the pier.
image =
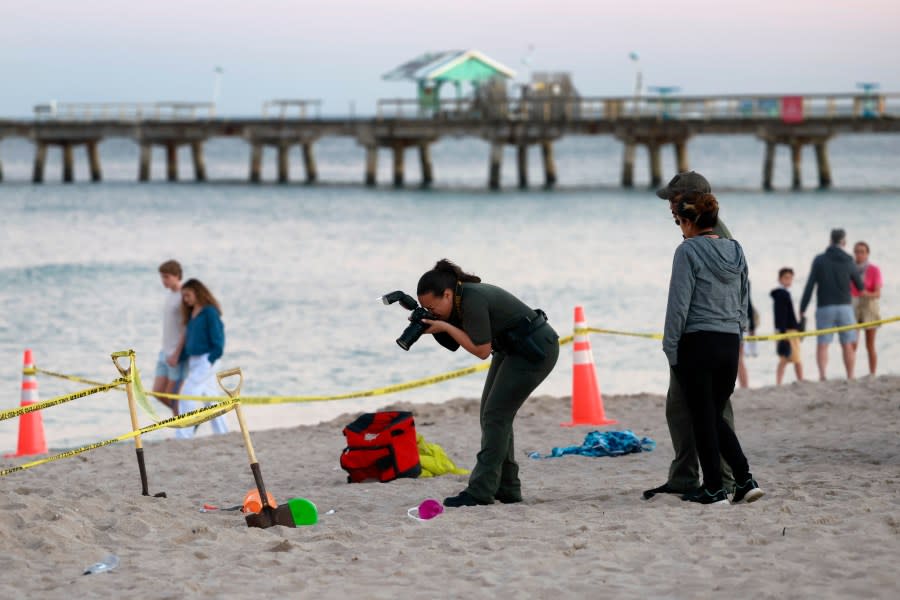
[[[0,118],[35,104],[271,99],[328,115],[412,98],[381,76],[430,50],[477,49],[517,71],[571,74],[582,96],[900,92],[896,0],[0,0]],[[638,61],[629,58],[637,53]]]

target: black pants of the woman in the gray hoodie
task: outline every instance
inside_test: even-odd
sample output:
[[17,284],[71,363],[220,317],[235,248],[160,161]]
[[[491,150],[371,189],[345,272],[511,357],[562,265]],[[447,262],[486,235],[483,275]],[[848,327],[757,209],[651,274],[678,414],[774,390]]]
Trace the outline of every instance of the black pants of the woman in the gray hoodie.
[[745,482],[750,474],[737,435],[722,417],[734,392],[740,343],[735,333],[713,331],[686,333],[678,342],[674,371],[691,411],[703,484],[712,492],[722,489],[720,452],[736,482]]

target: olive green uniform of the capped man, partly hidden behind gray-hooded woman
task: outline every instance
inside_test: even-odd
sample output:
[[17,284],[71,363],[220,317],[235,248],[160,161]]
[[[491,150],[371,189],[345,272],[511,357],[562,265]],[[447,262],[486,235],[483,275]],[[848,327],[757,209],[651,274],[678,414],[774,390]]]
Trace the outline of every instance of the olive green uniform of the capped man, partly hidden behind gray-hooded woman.
[[[721,220],[713,228],[713,233],[719,237],[732,239],[731,232]],[[734,410],[731,407],[730,398],[725,402],[723,417],[734,431]],[[684,391],[678,385],[678,379],[671,368],[669,369],[669,391],[666,394],[666,423],[669,425],[669,435],[672,436],[672,447],[675,450],[675,458],[669,467],[668,485],[679,492],[695,490],[700,487],[700,462],[697,445],[694,442],[694,426]],[[734,475],[724,459],[721,459],[721,465],[722,483],[730,493],[734,490]]]

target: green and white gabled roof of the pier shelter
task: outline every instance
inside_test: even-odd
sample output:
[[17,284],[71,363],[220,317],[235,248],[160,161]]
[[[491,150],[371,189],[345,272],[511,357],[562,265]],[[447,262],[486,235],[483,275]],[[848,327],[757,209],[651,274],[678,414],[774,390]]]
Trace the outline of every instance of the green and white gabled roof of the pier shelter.
[[478,50],[426,52],[386,73],[386,81],[484,81],[516,72]]

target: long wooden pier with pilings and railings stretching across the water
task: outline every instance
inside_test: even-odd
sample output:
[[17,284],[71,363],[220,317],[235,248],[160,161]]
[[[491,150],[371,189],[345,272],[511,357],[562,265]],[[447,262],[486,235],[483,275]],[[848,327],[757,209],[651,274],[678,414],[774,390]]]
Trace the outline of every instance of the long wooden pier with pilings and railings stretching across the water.
[[[700,135],[752,136],[765,143],[762,187],[773,187],[777,145],[791,149],[792,188],[801,187],[801,154],[813,146],[819,187],[832,183],[828,142],[842,134],[900,133],[900,94],[820,94],[806,96],[667,96],[643,98],[518,99],[479,104],[471,99],[441,101],[427,109],[416,100],[380,100],[370,117],[322,118],[315,100],[276,100],[261,118],[220,118],[209,103],[61,104],[36,109],[29,120],[0,119],[0,140],[22,137],[35,147],[32,181],[44,181],[47,151],[62,153],[62,180],[74,181],[75,148],[83,146],[91,181],[102,180],[98,144],[113,138],[140,147],[137,180],[151,178],[153,146],[166,149],[166,179],[177,181],[178,151],[190,148],[196,181],[206,181],[204,144],[215,137],[239,137],[249,145],[248,180],[262,180],[265,147],[277,150],[277,180],[290,181],[289,150],[300,146],[305,181],[318,180],[314,153],[323,137],[348,137],[364,149],[363,177],[376,185],[379,150],[392,153],[393,184],[403,186],[405,153],[416,149],[421,185],[435,180],[431,145],[443,137],[473,137],[488,142],[487,184],[499,189],[504,146],[517,149],[518,184],[527,187],[528,153],[539,147],[543,184],[558,181],[553,144],[565,136],[612,136],[622,142],[621,184],[634,186],[635,155],[646,148],[650,184],[663,181],[661,150],[672,145],[677,171],[691,168],[688,143]],[[0,157],[2,158],[2,157]],[[3,170],[0,162],[0,181]]]

